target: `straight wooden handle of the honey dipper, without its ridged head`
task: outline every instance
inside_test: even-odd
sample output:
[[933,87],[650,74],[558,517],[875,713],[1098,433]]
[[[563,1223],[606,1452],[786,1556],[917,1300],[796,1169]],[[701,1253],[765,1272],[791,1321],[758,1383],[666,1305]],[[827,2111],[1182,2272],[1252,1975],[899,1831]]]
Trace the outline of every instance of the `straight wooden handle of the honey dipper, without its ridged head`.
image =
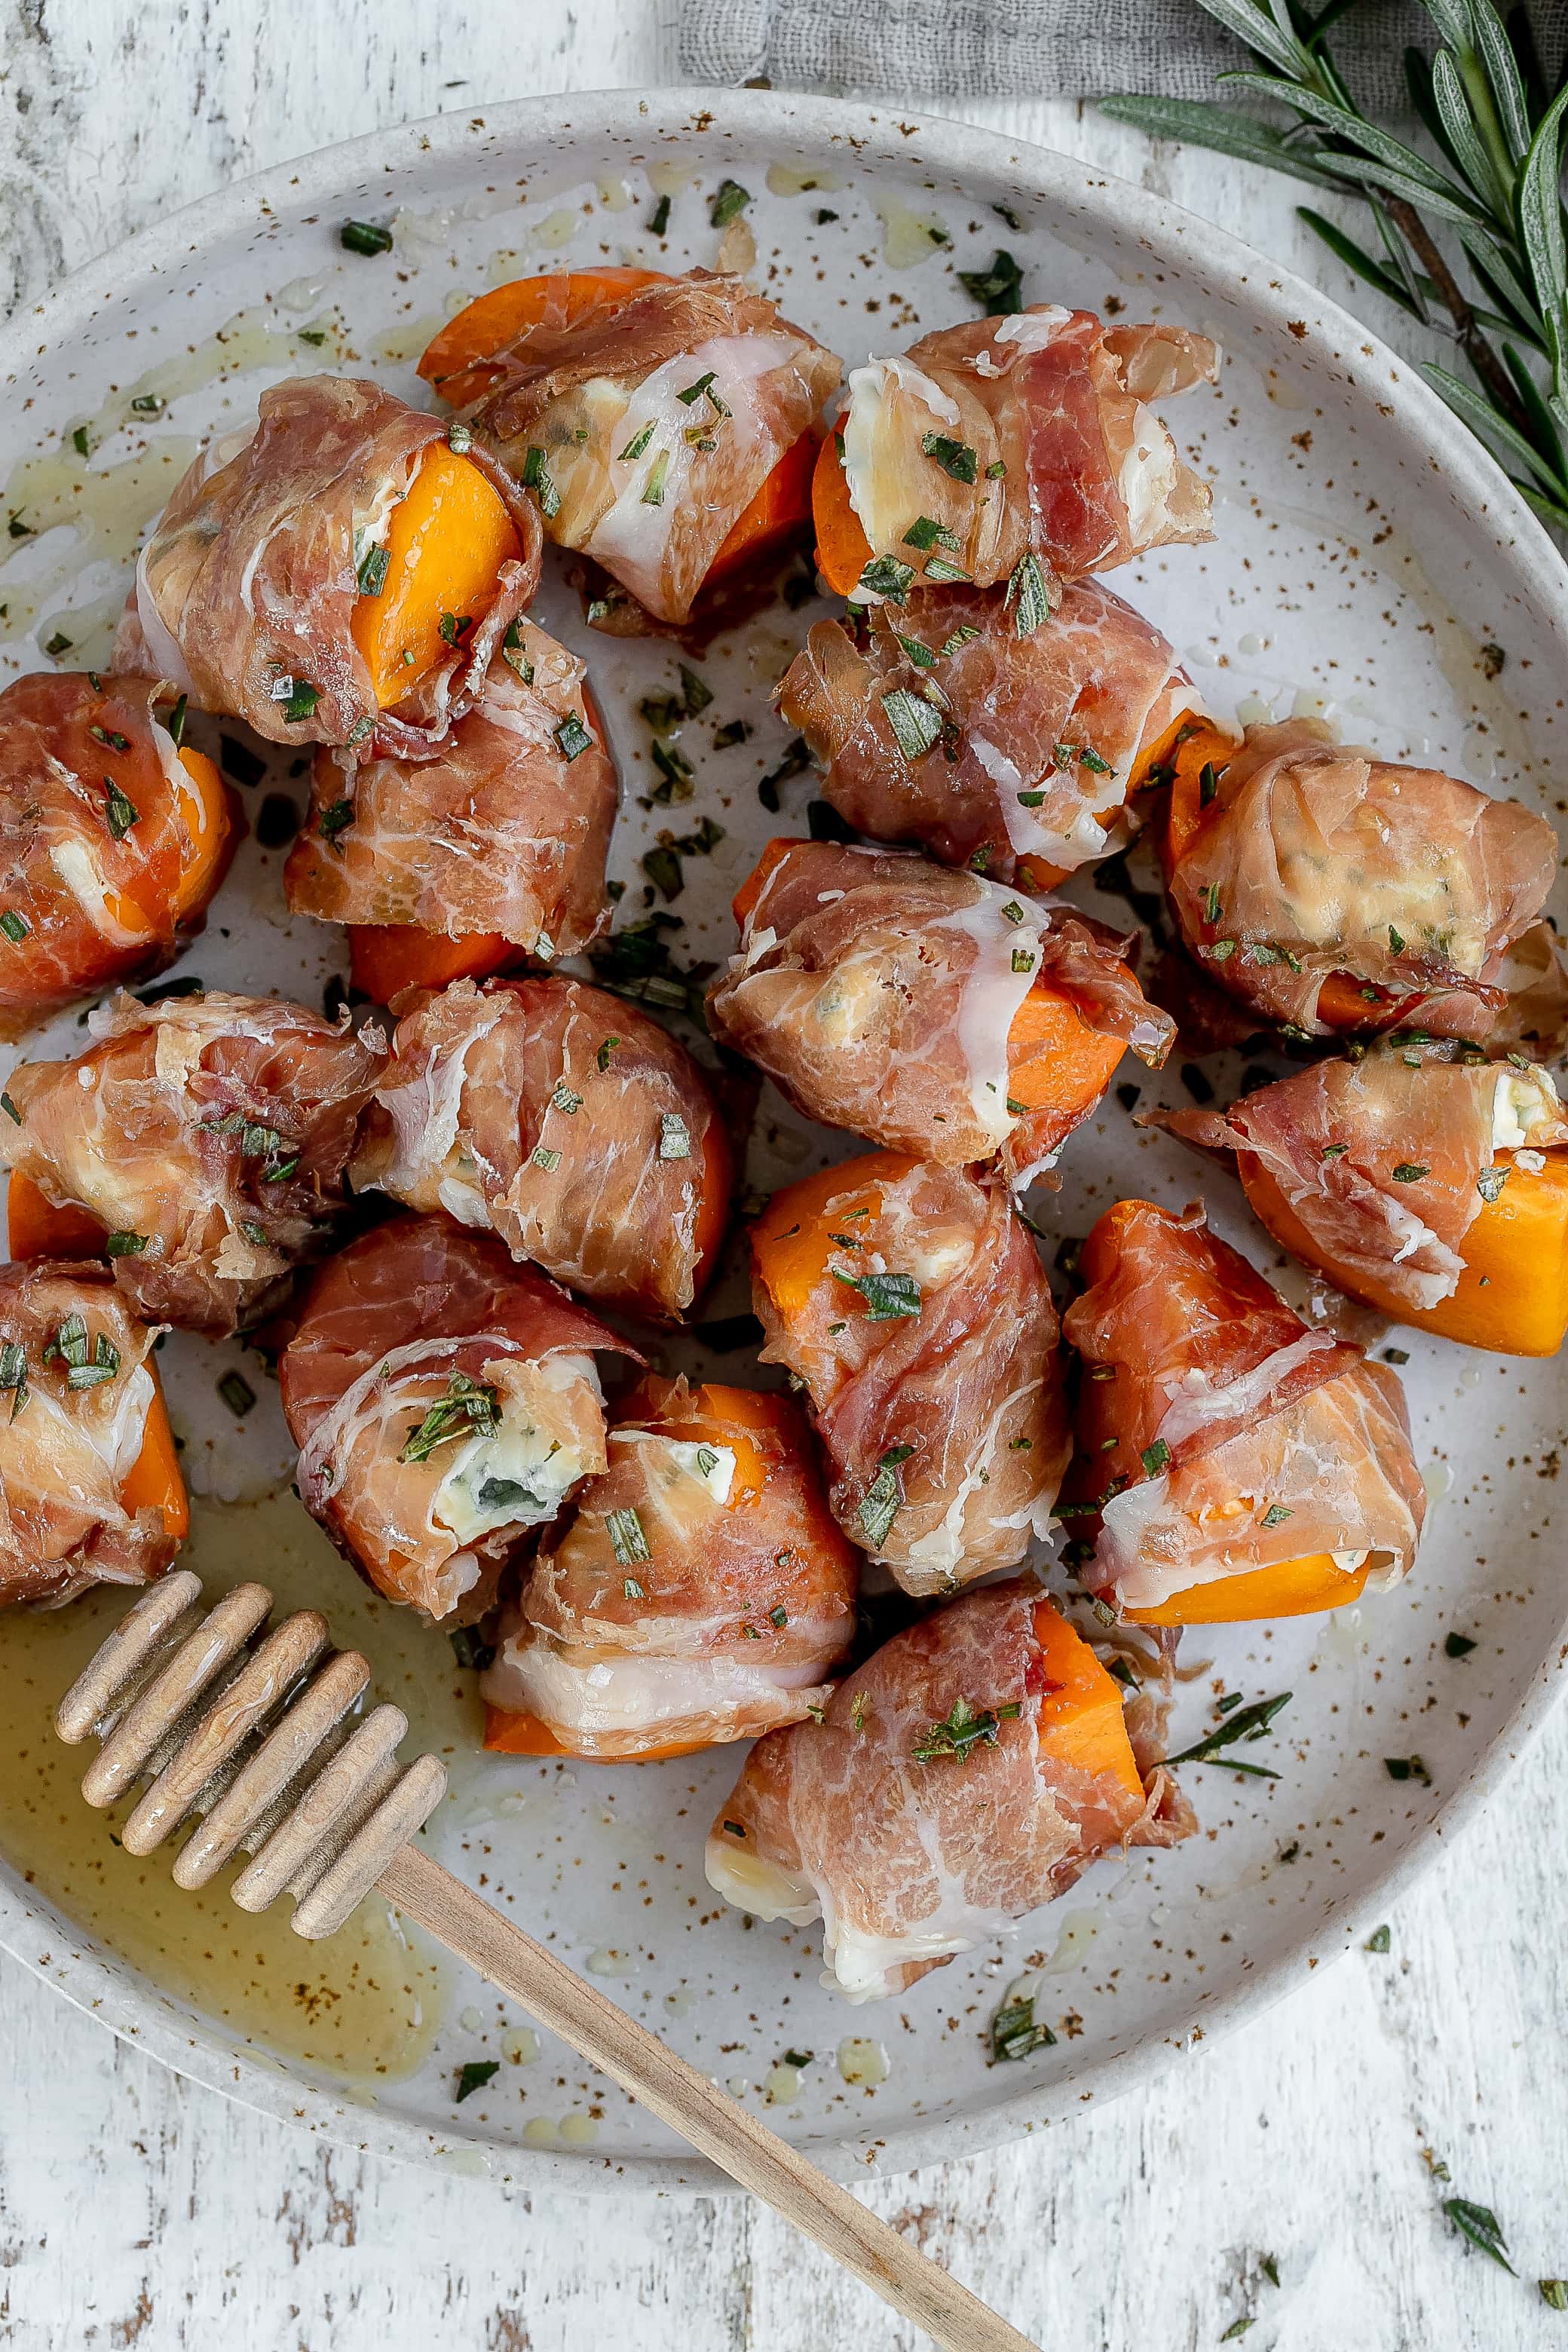
[[665,2049],[604,1992],[522,1929],[491,1910],[449,1870],[416,1846],[404,1846],[376,1882],[388,1903],[418,1919],[447,1950],[510,1992],[663,2124],[722,2166],[797,2230],[813,2237],[835,2263],[865,2279],[884,2303],[926,2331],[943,2352],[1034,2352],[966,2286],[950,2279],[917,2246],[806,2164],[766,2124]]

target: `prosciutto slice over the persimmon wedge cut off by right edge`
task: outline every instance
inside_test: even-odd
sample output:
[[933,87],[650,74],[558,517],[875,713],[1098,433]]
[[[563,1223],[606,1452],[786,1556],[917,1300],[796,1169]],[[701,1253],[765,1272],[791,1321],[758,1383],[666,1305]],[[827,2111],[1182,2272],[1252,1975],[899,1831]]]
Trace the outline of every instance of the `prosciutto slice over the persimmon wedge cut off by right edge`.
[[1568,1143],[1544,1070],[1408,1037],[1361,1061],[1319,1061],[1229,1110],[1150,1112],[1138,1124],[1237,1152],[1248,1197],[1258,1171],[1272,1178],[1321,1268],[1420,1310],[1458,1289],[1469,1228],[1502,1195],[1514,1152]]

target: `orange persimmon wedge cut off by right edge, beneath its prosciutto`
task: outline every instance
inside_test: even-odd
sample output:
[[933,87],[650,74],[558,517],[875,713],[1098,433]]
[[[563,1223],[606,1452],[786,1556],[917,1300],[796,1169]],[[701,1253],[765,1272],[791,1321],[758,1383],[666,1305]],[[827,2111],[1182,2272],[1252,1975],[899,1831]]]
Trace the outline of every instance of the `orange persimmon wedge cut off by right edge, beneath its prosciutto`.
[[1352,1298],[1465,1348],[1556,1355],[1568,1334],[1568,1150],[1542,1157],[1537,1174],[1500,1162],[1509,1169],[1507,1183],[1497,1200],[1483,1202],[1460,1244],[1465,1272],[1458,1289],[1434,1308],[1406,1305],[1380,1282],[1326,1258],[1255,1152],[1237,1155],[1237,1174],[1253,1214],[1281,1249],[1321,1268]]

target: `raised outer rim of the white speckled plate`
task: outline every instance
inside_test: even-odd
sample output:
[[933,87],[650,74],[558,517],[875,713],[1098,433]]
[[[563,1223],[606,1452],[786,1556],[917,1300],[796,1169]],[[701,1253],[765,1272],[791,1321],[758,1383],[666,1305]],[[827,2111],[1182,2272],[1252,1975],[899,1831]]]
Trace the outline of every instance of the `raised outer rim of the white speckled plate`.
[[[922,160],[964,174],[980,165],[990,172],[1013,172],[1044,202],[1072,200],[1110,216],[1138,240],[1152,261],[1187,270],[1206,268],[1232,282],[1237,294],[1260,315],[1274,336],[1288,334],[1298,355],[1326,367],[1345,367],[1349,343],[1354,365],[1387,376],[1392,423],[1425,459],[1441,463],[1443,477],[1472,508],[1476,527],[1493,529],[1497,553],[1519,572],[1519,588],[1533,600],[1540,619],[1566,640],[1568,654],[1568,564],[1544,524],[1483,449],[1467,426],[1425,381],[1418,362],[1387,346],[1363,320],[1284,263],[1260,254],[1232,230],[1201,214],[1140,188],[1135,181],[1103,172],[1074,155],[1018,139],[1011,132],[964,122],[952,115],[917,113],[893,101],[837,99],[816,92],[722,89],[710,85],[668,85],[658,89],[585,89],[527,99],[503,99],[482,113],[444,113],[367,132],[357,139],[315,148],[308,155],[268,165],[263,172],[195,198],[160,221],[150,221],[106,254],[75,268],[47,294],[19,308],[0,325],[0,381],[14,381],[38,358],[40,346],[66,339],[89,325],[94,303],[115,301],[127,285],[158,278],[181,266],[205,235],[233,235],[235,226],[266,223],[270,202],[296,212],[313,200],[341,200],[348,188],[364,188],[388,169],[407,169],[421,155],[440,172],[444,160],[475,153],[484,141],[512,155],[541,153],[562,129],[583,136],[625,136],[646,122],[661,129],[696,134],[712,129],[717,141],[762,143],[780,132],[790,139],[818,141],[825,151],[849,146],[860,162],[865,148],[877,148],[893,134],[900,143],[889,160]],[[1302,332],[1305,329],[1305,332]],[[983,2154],[1011,2140],[1044,2133],[1048,2126],[1105,2103],[1138,2082],[1154,2082],[1180,2053],[1192,2051],[1194,2030],[1201,2039],[1262,2016],[1305,1983],[1316,1969],[1342,1957],[1359,1933],[1403,1893],[1441,1851],[1441,1839],[1462,1830],[1500,1788],[1526,1748],[1535,1740],[1561,1693],[1561,1670],[1568,1651],[1568,1597],[1552,1649],[1535,1663],[1509,1715],[1486,1748],[1479,1750],[1465,1778],[1448,1790],[1432,1813],[1415,1825],[1408,1842],[1375,1886],[1347,1893],[1326,1905],[1307,1940],[1258,1969],[1213,2002],[1199,1999],[1182,2037],[1164,2037],[1086,2063],[1051,2093],[1020,2086],[1009,2098],[973,2119],[931,2119],[879,2136],[875,2159],[842,2140],[809,2145],[804,2154],[842,2180],[896,2178],[922,2164]],[[26,1882],[0,1860],[0,1950],[21,1962],[40,1983],[61,1992],[73,2006],[108,2025],[120,2039],[148,2051],[176,2074],[186,2074],[242,2107],[303,2126],[327,2140],[381,2154],[404,2164],[475,2173],[482,2161],[487,2178],[527,2187],[564,2187],[581,2194],[625,2190],[661,2190],[686,2194],[743,2194],[729,2176],[691,2154],[609,2157],[583,2150],[567,2154],[548,2147],[508,2147],[494,2138],[454,2129],[433,2133],[418,2124],[378,2112],[376,2105],[343,2105],[331,2091],[292,2072],[289,2060],[244,2042],[228,2044],[216,2023],[200,2030],[174,2023],[165,1994],[146,1983],[129,1962],[103,1959],[85,1950],[61,1957],[61,1936],[49,1907],[31,1900]],[[66,1938],[68,1943],[68,1938]],[[1081,2089],[1088,2084],[1088,2089]]]

